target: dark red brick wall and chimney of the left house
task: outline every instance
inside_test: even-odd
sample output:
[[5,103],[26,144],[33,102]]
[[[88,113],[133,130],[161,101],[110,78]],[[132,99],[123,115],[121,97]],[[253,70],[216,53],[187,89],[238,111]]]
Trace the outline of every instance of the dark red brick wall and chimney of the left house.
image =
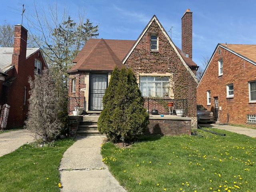
[[[42,69],[46,67],[40,49],[26,58],[27,30],[20,25],[15,26],[14,30],[14,53],[12,55],[12,65],[5,81],[0,82],[2,88],[1,104],[10,105],[7,128],[22,126],[28,113],[28,98],[30,85],[28,77],[34,76],[35,59],[42,62]],[[26,101],[24,96],[26,92]]]

